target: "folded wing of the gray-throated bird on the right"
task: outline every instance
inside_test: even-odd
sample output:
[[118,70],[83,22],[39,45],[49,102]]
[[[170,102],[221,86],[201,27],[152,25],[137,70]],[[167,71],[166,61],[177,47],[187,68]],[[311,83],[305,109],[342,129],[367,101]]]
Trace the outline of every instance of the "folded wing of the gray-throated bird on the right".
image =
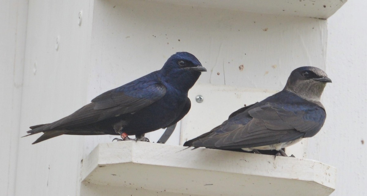
[[[225,130],[224,134],[204,134],[204,137],[190,143],[193,146],[220,149],[279,144],[315,135],[326,118],[325,110],[311,102],[293,105],[265,103],[250,108],[248,114],[252,119],[247,124],[233,130]],[[231,124],[230,121],[231,119],[221,126]],[[217,130],[221,126],[216,127]]]

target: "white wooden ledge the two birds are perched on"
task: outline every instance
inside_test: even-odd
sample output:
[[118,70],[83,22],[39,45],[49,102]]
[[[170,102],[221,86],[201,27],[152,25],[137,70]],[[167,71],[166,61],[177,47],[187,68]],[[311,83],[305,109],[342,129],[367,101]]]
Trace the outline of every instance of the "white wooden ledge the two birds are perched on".
[[307,159],[149,142],[99,144],[82,163],[82,196],[327,196],[336,169]]

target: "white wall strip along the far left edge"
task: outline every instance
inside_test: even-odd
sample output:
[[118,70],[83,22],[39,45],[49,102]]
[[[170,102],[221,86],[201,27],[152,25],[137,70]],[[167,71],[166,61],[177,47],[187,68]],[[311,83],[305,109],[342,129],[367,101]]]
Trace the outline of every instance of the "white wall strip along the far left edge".
[[0,195],[14,195],[28,1],[0,0]]

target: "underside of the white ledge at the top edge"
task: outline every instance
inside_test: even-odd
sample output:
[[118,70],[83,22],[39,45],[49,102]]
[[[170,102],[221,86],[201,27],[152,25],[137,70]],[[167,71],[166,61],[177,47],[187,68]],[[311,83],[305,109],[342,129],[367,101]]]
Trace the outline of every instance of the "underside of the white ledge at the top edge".
[[347,0],[150,0],[172,4],[224,8],[261,14],[290,15],[326,19]]

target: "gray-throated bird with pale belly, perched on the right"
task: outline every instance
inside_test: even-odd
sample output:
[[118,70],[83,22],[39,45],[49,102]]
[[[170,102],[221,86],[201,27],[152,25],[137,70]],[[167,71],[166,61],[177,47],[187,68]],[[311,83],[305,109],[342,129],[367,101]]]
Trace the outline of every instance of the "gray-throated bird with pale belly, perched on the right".
[[331,80],[319,68],[297,68],[282,91],[233,112],[221,125],[184,146],[256,153],[275,149],[287,156],[281,148],[314,136],[323,126],[326,112],[320,97],[328,82]]

